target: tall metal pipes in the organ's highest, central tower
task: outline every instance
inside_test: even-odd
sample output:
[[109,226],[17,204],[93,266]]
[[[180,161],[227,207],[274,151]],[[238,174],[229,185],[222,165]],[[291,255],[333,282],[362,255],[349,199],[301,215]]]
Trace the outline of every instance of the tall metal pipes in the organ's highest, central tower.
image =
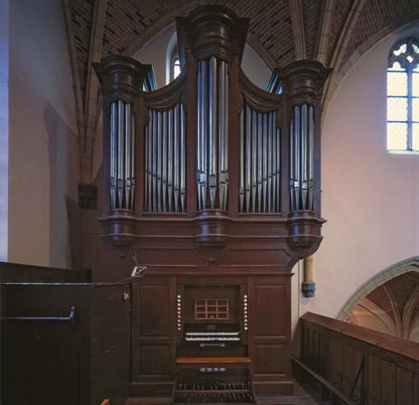
[[[228,63],[215,57],[198,61],[198,209],[227,209]],[[209,198],[207,197],[209,195]]]

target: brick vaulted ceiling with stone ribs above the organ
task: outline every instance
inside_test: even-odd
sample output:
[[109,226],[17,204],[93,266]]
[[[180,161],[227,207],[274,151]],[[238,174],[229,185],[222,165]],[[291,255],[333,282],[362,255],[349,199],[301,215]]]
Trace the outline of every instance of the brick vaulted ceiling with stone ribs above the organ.
[[[99,86],[91,61],[132,55],[155,33],[198,5],[222,4],[250,18],[248,42],[271,67],[300,58],[339,69],[357,50],[371,46],[397,26],[419,18],[417,0],[62,0],[69,36],[79,116],[83,183],[91,182],[89,159]],[[301,37],[303,39],[301,40]],[[357,52],[359,54],[359,52]],[[333,78],[329,82],[333,83]],[[336,86],[335,86],[336,87]],[[327,91],[332,91],[329,85]],[[92,102],[93,101],[93,102]]]

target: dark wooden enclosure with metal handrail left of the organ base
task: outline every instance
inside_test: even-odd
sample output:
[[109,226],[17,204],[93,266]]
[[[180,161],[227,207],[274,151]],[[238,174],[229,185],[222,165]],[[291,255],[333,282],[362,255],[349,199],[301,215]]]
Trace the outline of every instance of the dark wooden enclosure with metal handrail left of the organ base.
[[0,402],[124,405],[129,283],[91,284],[88,271],[6,263],[0,274]]

